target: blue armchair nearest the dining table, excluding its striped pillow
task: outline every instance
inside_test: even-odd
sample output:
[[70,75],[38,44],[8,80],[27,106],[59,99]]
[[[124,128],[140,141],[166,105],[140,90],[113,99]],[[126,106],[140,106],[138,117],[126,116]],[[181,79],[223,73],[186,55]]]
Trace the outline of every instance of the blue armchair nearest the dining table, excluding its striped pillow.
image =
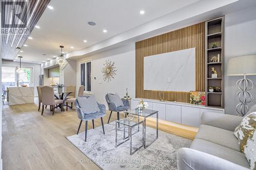
[[[83,95],[82,97],[84,98],[89,98],[89,95]],[[77,117],[81,120],[78,130],[77,130],[77,134],[79,133],[79,129],[81,127],[82,121],[86,122],[86,134],[85,134],[85,141],[87,140],[87,129],[88,129],[88,120],[92,120],[93,122],[93,129],[94,129],[94,119],[96,118],[100,118],[101,119],[101,125],[102,125],[102,129],[103,129],[103,134],[105,134],[104,131],[104,123],[103,123],[103,116],[106,115],[106,107],[103,104],[99,104],[98,103],[98,107],[100,109],[100,112],[96,112],[96,113],[90,113],[90,114],[85,114],[83,113],[83,111],[81,110],[81,108],[78,105],[77,100],[75,101],[75,106],[76,106],[76,112],[77,112]]]

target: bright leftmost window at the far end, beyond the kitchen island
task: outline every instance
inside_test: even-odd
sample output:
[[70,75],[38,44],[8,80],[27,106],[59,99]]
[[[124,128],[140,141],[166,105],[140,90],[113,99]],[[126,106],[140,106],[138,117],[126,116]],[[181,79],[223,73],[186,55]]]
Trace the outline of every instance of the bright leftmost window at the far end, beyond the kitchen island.
[[16,75],[16,66],[2,66],[2,91],[17,86]]

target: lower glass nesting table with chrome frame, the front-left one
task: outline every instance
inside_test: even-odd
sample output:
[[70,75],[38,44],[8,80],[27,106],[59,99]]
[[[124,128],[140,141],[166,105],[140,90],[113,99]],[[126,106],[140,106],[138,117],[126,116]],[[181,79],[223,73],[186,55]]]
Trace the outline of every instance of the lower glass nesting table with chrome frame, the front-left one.
[[[122,141],[121,143],[117,143],[117,124],[121,124],[124,127],[124,133],[123,133],[123,139],[124,141]],[[142,127],[144,127],[144,120],[140,120],[140,119],[133,119],[133,120],[127,120],[126,118],[121,119],[121,120],[116,120],[116,124],[115,124],[115,129],[116,129],[116,147],[118,147],[120,144],[126,142],[127,140],[130,140],[130,155],[133,155],[136,151],[138,151],[140,148],[142,148],[144,146],[144,131],[142,131],[142,144],[140,147],[138,147],[135,151],[132,151],[132,128],[136,127],[136,126],[140,126],[140,124],[142,124]],[[128,132],[129,132],[129,136],[127,138],[125,138],[125,127],[128,128]]]

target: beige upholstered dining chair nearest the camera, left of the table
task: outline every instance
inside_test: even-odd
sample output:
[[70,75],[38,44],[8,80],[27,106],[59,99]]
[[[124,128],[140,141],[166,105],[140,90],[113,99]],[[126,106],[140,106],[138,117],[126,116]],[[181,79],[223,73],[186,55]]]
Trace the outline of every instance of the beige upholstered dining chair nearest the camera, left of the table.
[[63,100],[56,100],[54,98],[53,88],[50,86],[43,86],[41,89],[41,100],[42,100],[42,112],[44,113],[44,106],[50,105],[50,110],[52,110],[52,115],[54,115],[55,105],[62,104]]

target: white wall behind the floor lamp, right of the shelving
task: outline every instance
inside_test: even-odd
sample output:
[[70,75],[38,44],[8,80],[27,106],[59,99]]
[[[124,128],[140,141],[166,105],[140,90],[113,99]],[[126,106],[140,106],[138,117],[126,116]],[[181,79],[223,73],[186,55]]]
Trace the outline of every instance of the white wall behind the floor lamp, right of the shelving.
[[[237,80],[242,76],[226,76],[227,61],[230,57],[256,54],[256,7],[225,16],[225,113],[236,114]],[[256,65],[255,65],[256,67]],[[256,76],[248,76],[256,85]],[[256,87],[251,92],[256,97]],[[256,98],[251,105],[256,104]]]

